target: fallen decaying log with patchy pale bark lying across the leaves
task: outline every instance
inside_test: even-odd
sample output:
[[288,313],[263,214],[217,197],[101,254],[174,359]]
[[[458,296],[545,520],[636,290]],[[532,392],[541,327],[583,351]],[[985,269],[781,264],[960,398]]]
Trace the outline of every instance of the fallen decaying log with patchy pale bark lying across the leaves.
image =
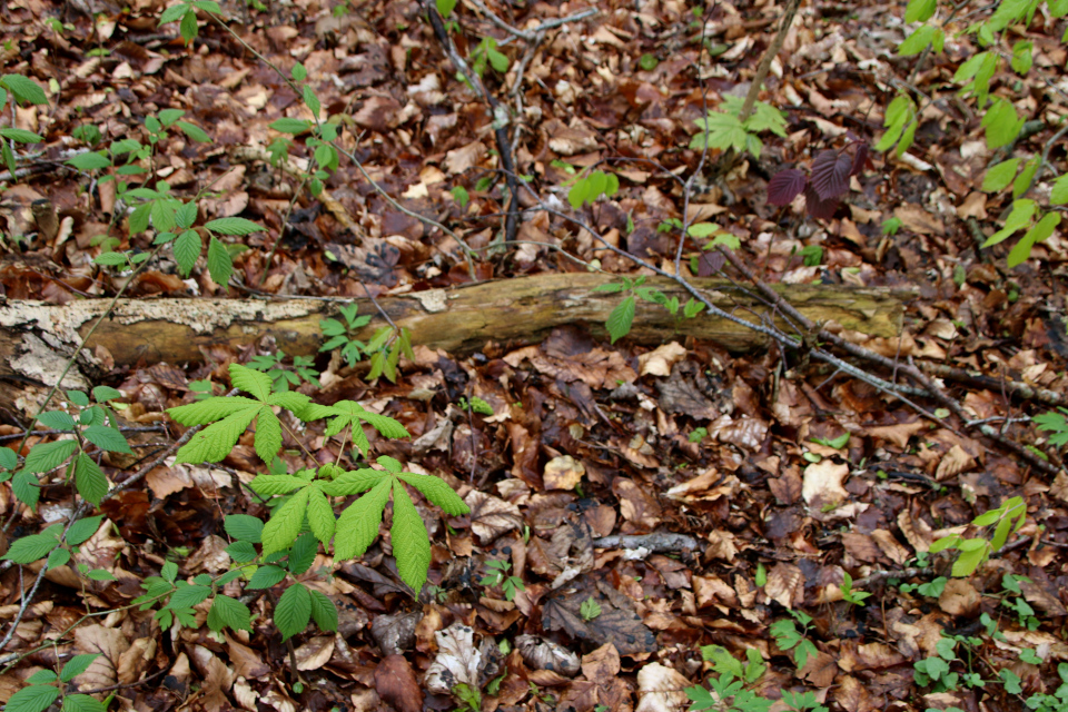
[[[537,343],[554,327],[584,323],[604,336],[604,322],[622,298],[595,293],[612,281],[607,275],[554,274],[483,283],[451,290],[433,289],[378,299],[399,326],[412,330],[413,343],[466,354],[487,342],[503,346]],[[713,301],[739,317],[756,320],[768,308],[732,285],[712,279],[694,284]],[[650,278],[645,286],[669,298],[688,296],[668,279]],[[892,337],[902,324],[902,294],[887,289],[841,286],[783,286],[783,295],[814,322],[833,322],[870,336]],[[369,299],[357,299],[360,314],[374,315],[360,338],[385,322]],[[51,386],[69,355],[107,310],[109,299],[86,299],[55,306],[40,301],[0,304],[0,406],[10,407],[13,394],[28,386]],[[319,320],[337,312],[337,303],[320,299],[121,299],[91,335],[66,387],[86,388],[100,378],[101,357],[116,366],[182,363],[204,358],[200,347],[247,345],[273,336],[288,355],[312,355],[323,343]],[[680,309],[681,312],[681,309]],[[672,317],[661,306],[639,300],[630,338],[654,344],[693,336],[731,350],[765,344],[764,337],[725,319],[701,314],[694,319]]]

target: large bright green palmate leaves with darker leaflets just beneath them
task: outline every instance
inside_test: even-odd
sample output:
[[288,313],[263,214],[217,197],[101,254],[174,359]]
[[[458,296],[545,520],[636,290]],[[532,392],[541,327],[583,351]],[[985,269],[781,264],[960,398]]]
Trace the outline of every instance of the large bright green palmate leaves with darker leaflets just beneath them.
[[[249,589],[275,586],[287,576],[306,573],[315,561],[319,544],[328,550],[332,541],[334,556],[339,561],[362,555],[378,536],[390,496],[390,532],[397,570],[418,595],[429,568],[431,545],[426,527],[405,485],[417,490],[447,514],[468,513],[467,505],[444,481],[404,472],[400,463],[392,457],[377,459],[383,469],[344,471],[327,464],[289,474],[284,464],[280,468],[275,466],[281,462],[277,453],[283,445],[283,423],[275,408],[289,411],[304,422],[327,419],[326,437],[335,437],[347,428],[353,444],[364,456],[369,453],[364,424],[390,438],[407,437],[404,426],[350,400],[332,406],[314,404],[303,394],[279,388],[268,374],[247,366],[231,364],[229,372],[234,387],[251,397],[209,397],[167,412],[182,425],[206,426],[178,451],[176,461],[219,462],[255,421],[254,448],[260,459],[271,463],[271,467],[270,474],[253,479],[250,487],[269,498],[270,518],[264,523],[244,514],[226,517],[226,531],[235,540],[226,551],[235,562],[235,568],[219,578],[205,575],[187,583],[176,581],[177,565],[168,563],[160,576],[146,580],[146,593],[137,603],[150,607],[156,601],[169,596],[169,602],[157,613],[161,625],[167,627],[175,622],[189,625],[194,622],[192,607],[214,595],[209,627],[248,630],[248,609],[218,593],[219,586],[241,576],[248,578],[246,585]],[[338,518],[333,500],[359,494],[363,496],[349,504]],[[293,582],[279,599],[274,620],[283,636],[288,639],[303,631],[312,620],[323,630],[336,629],[337,612],[329,599]]]

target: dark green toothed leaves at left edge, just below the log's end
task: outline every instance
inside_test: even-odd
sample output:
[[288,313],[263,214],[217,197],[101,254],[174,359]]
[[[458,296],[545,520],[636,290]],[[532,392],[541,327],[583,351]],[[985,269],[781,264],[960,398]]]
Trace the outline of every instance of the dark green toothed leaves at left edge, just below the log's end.
[[87,502],[99,504],[108,493],[109,484],[95,457],[99,458],[102,452],[134,453],[109,405],[122,394],[108,386],[97,386],[92,389],[92,397],[96,403],[80,390],[68,390],[66,409],[41,413],[38,416],[41,425],[71,437],[38,443],[27,453],[21,468],[18,468],[14,451],[0,448],[0,482],[10,478],[14,496],[31,510],[37,508],[41,494],[38,475],[63,465],[67,465],[67,481],[73,479],[78,493]]

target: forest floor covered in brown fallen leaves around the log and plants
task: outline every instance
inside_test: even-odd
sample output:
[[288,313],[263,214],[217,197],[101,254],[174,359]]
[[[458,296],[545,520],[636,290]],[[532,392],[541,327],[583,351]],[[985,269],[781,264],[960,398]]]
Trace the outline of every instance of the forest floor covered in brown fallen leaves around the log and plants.
[[[987,149],[979,117],[951,81],[976,51],[972,38],[902,58],[903,6],[803,3],[761,95],[785,112],[785,136],[762,135],[759,158],[744,155],[725,176],[705,179],[721,151],[688,148],[694,121],[745,95],[781,6],[605,2],[595,16],[544,31],[528,51],[528,40],[490,22],[482,4],[456,6],[452,29],[462,57],[477,52],[481,38],[500,42],[483,46],[483,83],[514,117],[513,158],[532,188],[520,192],[526,211],[514,246],[500,244],[507,180],[493,117],[457,79],[417,2],[224,6],[240,42],[201,13],[189,46],[177,22],[159,27],[164,0],[0,3],[3,73],[36,80],[49,98],[4,117],[44,144],[18,148],[30,170],[16,184],[7,175],[0,191],[3,296],[62,305],[125,286],[125,296],[144,299],[347,298],[586,271],[591,263],[632,278],[651,274],[561,217],[571,212],[568,181],[597,167],[617,176],[619,190],[575,215],[607,244],[668,271],[680,235],[671,221],[689,210],[689,222],[715,222],[736,237],[738,254],[769,283],[913,288],[901,336],[864,345],[901,363],[986,377],[946,388],[971,417],[1060,467],[1057,441],[1034,418],[1065,405],[1068,245],[1055,233],[1013,269],[1005,263],[1011,244],[978,248],[1011,198],[980,190],[1003,156]],[[493,8],[522,29],[587,6]],[[1035,44],[1035,68],[998,85],[1015,87],[1018,109],[1039,122],[1013,149],[1046,151],[1060,168],[1068,158],[1064,141],[1054,141],[1068,116],[1062,26],[1039,12],[1020,27]],[[507,72],[494,67],[493,52]],[[287,150],[273,122],[312,118],[286,81],[297,62],[322,117],[339,117],[338,146],[363,166],[342,156],[318,197],[299,170],[266,160]],[[902,88],[928,99],[907,156],[872,150],[829,219],[769,205],[778,170],[805,166],[821,148],[874,146]],[[103,249],[150,250],[152,238],[128,237],[116,181],[100,180],[108,171],[63,161],[90,144],[147,145],[146,118],[167,109],[185,110],[182,120],[211,140],[172,128],[138,164],[151,164],[175,195],[208,191],[204,220],[239,216],[266,228],[224,240],[234,264],[228,286],[211,279],[202,258],[184,278],[169,250],[132,283],[93,261]],[[79,127],[96,127],[99,139]],[[288,138],[294,162],[312,156],[307,135]],[[123,179],[132,186],[146,175]],[[1035,190],[1048,201],[1047,178]],[[556,212],[536,209],[534,194]],[[33,215],[44,198],[60,221],[51,235]],[[688,241],[683,269],[691,258],[702,275],[723,268],[713,254]],[[109,704],[123,712],[457,709],[443,678],[476,690],[465,704],[486,711],[666,712],[689,706],[686,688],[731,672],[775,710],[788,709],[783,691],[808,691],[805,704],[835,711],[1007,712],[1068,683],[1068,476],[966,431],[938,403],[917,396],[924,415],[822,364],[779,348],[730,354],[684,327],[656,347],[626,337],[610,344],[581,326],[533,346],[490,343],[474,355],[421,347],[418,333],[413,342],[414,358],[400,360],[395,383],[369,380],[366,363],[349,367],[326,353],[308,366],[322,388],[295,380],[319,403],[357,400],[399,421],[412,437],[368,429],[372,451],[444,477],[477,505],[469,516],[446,516],[418,503],[433,542],[431,586],[418,602],[397,577],[384,530],[363,557],[335,563],[320,553],[298,576],[336,603],[340,621],[336,633],[295,636],[294,649],[271,624],[280,589],[244,592],[251,632],[211,632],[206,604],[195,607],[192,625],[168,630],[131,606],[167,561],[181,578],[226,571],[225,517],[269,514],[243,486],[267,472],[246,434],[219,467],[167,461],[105,501],[99,514],[113,526],[102,524],[70,566],[48,571],[29,605],[43,562],[8,562],[0,623],[20,620],[0,651],[0,701],[75,653],[103,655],[73,684],[101,701],[113,695]],[[112,483],[181,435],[162,411],[192,403],[191,388],[202,392],[205,380],[225,393],[229,364],[264,363],[276,346],[202,352],[199,363],[116,367],[92,384],[121,393],[130,426],[156,427],[129,435],[136,457],[103,457]],[[293,356],[278,368],[295,373]],[[1018,398],[1009,382],[1049,393]],[[464,407],[476,398],[477,408]],[[31,405],[3,414],[3,444],[20,442]],[[319,425],[296,435],[286,437],[287,468],[300,467],[300,448],[318,462],[347,457]],[[75,511],[79,501],[62,485],[62,472],[46,482],[36,511],[0,485],[4,546]],[[1010,497],[1024,498],[1026,522],[973,575],[952,577],[952,553],[928,553],[942,536],[989,537],[972,520]],[[521,589],[484,583],[494,561],[511,565]],[[79,577],[76,562],[109,580]],[[239,582],[227,586],[241,595]],[[761,709],[744,694],[733,703]]]

